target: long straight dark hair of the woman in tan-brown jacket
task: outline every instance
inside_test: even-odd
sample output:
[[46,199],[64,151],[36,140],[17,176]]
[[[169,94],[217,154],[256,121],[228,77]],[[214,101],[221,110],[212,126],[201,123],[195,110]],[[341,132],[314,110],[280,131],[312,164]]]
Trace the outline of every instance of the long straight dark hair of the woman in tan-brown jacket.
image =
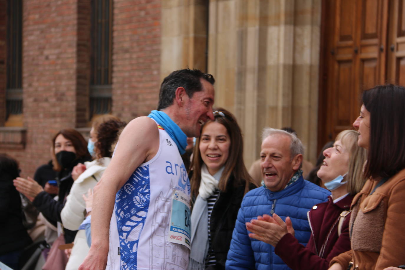
[[391,177],[405,168],[405,88],[378,85],[363,92],[370,112],[370,138],[366,177]]

